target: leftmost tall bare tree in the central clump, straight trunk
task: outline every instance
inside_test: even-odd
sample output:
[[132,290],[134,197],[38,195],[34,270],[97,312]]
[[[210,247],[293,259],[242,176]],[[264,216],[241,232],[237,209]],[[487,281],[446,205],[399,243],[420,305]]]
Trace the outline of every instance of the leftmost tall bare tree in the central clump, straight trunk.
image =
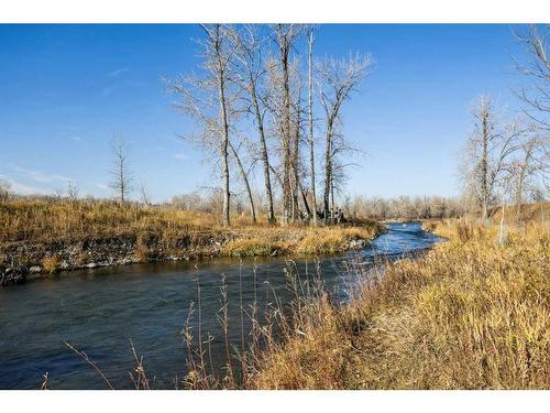
[[230,96],[230,64],[233,51],[228,41],[228,26],[222,24],[201,25],[206,40],[200,41],[204,50],[206,78],[184,77],[167,80],[173,91],[183,101],[177,105],[200,123],[202,132],[198,137],[185,139],[213,148],[218,152],[221,166],[223,210],[222,219],[230,225],[230,176],[229,176],[229,133],[232,109]]

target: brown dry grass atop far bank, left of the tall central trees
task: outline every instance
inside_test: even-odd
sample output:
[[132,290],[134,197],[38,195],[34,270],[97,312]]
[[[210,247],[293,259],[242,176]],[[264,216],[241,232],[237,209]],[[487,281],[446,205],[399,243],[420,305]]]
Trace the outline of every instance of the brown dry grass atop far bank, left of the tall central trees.
[[[232,217],[234,228],[250,225]],[[154,232],[160,237],[189,230],[221,229],[217,216],[169,207],[148,207],[106,200],[0,202],[0,242],[78,241]]]

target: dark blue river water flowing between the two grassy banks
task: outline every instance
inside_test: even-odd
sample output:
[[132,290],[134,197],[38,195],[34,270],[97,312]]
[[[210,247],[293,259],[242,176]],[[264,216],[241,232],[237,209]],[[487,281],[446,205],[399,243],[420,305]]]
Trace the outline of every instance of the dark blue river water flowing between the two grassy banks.
[[[352,253],[311,258],[237,259],[135,264],[63,273],[24,285],[0,289],[0,389],[38,389],[47,371],[52,389],[105,389],[98,372],[65,341],[85,351],[116,388],[132,388],[133,341],[156,388],[174,388],[186,372],[182,329],[200,286],[202,334],[210,333],[215,365],[224,362],[226,347],[217,314],[221,307],[221,274],[226,274],[230,338],[239,344],[240,300],[248,308],[285,303],[284,269],[300,279],[314,278],[317,265],[326,289],[344,301],[358,275],[345,270],[350,260],[364,267],[378,260],[415,254],[438,242],[418,222],[388,224],[388,231]],[[255,287],[254,287],[255,285]],[[242,293],[241,293],[242,292]],[[196,326],[196,323],[195,323]]]

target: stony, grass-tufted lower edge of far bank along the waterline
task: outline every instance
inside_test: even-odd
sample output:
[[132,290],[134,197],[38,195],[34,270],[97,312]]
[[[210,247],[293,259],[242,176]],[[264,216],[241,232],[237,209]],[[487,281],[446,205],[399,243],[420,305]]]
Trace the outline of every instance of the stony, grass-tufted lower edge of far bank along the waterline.
[[0,246],[0,284],[24,283],[59,271],[178,261],[218,256],[323,254],[364,247],[384,230],[369,221],[353,227],[191,230],[177,237],[155,232],[90,237],[77,241],[4,242]]

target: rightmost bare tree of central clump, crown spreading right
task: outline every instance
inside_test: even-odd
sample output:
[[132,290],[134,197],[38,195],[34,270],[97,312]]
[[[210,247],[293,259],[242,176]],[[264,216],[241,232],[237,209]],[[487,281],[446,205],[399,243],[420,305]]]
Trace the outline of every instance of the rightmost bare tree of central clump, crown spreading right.
[[[324,219],[329,219],[329,202],[334,178],[334,135],[343,102],[350,98],[360,81],[370,74],[370,55],[350,56],[349,59],[324,58],[317,62],[320,101],[324,109]],[[330,217],[333,219],[333,213]]]

